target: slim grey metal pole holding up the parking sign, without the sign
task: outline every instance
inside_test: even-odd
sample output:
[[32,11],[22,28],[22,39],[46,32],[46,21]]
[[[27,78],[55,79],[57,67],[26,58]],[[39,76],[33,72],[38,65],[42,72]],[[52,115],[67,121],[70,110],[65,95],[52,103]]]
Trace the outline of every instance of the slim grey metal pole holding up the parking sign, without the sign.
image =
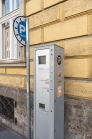
[[29,19],[26,18],[26,68],[27,68],[27,122],[28,139],[31,139],[31,108],[30,108],[30,48],[29,48]]

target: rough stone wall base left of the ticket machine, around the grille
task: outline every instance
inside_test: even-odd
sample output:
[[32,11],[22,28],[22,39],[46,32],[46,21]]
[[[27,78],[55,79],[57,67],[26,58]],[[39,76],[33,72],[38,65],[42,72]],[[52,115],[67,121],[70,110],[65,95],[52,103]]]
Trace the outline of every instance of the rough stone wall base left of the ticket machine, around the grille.
[[[0,85],[0,95],[9,97],[16,101],[16,107],[14,108],[14,117],[17,118],[17,123],[11,122],[5,116],[0,113],[0,121],[11,129],[27,137],[27,96],[25,89],[15,89],[12,87]],[[31,91],[31,125],[32,125],[32,137],[33,137],[33,93]]]

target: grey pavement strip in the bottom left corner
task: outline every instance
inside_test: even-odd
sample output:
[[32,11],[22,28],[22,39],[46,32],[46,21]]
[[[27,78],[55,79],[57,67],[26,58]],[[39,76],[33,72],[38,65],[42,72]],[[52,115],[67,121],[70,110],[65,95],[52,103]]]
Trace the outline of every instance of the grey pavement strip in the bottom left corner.
[[0,139],[26,139],[12,129],[0,123]]

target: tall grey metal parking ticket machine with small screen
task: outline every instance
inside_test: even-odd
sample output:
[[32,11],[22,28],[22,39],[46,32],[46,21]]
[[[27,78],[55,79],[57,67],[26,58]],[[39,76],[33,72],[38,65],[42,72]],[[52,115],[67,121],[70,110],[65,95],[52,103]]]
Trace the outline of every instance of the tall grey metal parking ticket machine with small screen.
[[64,139],[64,49],[34,48],[34,139]]

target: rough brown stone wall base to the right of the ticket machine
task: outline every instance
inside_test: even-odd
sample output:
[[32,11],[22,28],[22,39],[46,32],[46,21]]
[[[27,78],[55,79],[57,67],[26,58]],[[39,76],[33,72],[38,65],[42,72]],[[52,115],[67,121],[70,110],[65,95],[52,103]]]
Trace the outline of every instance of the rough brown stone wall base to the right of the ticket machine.
[[65,97],[65,139],[92,139],[92,101]]

